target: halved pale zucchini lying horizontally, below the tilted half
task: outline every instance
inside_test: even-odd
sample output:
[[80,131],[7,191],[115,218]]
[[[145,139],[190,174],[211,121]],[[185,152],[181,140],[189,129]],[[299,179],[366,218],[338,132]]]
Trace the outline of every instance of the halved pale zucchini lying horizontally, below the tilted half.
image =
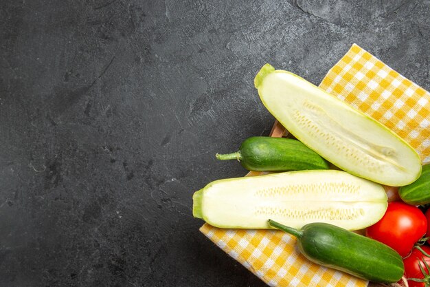
[[301,228],[327,222],[348,230],[375,224],[387,210],[380,184],[345,171],[313,170],[216,180],[193,195],[193,215],[220,228]]

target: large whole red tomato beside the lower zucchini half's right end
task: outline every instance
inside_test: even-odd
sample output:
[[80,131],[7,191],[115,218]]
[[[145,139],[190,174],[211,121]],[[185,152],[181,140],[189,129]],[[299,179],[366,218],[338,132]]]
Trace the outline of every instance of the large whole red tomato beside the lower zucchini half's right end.
[[418,207],[390,202],[381,220],[367,227],[366,235],[405,257],[426,232],[427,219]]

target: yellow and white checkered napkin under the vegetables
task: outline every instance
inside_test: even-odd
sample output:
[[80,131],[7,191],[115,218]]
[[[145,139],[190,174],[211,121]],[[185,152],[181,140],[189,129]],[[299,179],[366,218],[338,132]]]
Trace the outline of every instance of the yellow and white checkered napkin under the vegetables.
[[[319,85],[392,129],[430,162],[430,94],[372,54],[352,45]],[[365,287],[368,281],[309,262],[295,238],[275,230],[201,232],[269,286]]]

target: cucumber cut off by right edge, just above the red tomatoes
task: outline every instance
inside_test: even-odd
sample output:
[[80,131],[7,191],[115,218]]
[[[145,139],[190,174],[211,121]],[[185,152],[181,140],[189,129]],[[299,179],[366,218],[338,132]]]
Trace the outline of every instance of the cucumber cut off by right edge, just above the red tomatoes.
[[407,204],[421,205],[430,203],[430,164],[422,166],[421,176],[415,182],[400,187],[398,195]]

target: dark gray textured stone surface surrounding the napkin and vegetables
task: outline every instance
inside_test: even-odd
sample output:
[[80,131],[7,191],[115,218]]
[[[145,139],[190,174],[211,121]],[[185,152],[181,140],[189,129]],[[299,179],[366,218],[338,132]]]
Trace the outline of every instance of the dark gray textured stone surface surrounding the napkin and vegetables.
[[[229,3],[230,2],[230,3]],[[264,63],[358,43],[430,88],[430,1],[0,3],[0,286],[264,286],[199,233],[214,153],[266,135]]]

